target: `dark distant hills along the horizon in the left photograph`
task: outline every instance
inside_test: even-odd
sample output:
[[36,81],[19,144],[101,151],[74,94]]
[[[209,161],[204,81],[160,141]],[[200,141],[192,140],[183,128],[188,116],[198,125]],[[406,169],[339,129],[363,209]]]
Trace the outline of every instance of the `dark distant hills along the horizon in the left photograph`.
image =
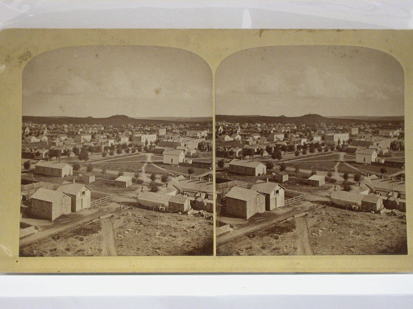
[[165,119],[136,119],[126,115],[114,115],[106,118],[88,117],[41,117],[23,116],[23,122],[36,124],[102,124],[102,125],[122,125],[122,124],[166,124],[166,123],[212,123],[212,117],[185,117],[185,118],[165,118]]

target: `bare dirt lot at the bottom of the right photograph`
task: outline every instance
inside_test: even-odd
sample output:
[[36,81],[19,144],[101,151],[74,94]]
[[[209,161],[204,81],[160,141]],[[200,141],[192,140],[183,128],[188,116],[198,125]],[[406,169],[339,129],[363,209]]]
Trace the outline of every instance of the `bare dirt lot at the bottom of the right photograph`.
[[[353,214],[352,222],[348,213]],[[309,215],[245,234],[217,247],[217,255],[312,254],[407,254],[405,221],[401,216],[349,212],[325,206]]]

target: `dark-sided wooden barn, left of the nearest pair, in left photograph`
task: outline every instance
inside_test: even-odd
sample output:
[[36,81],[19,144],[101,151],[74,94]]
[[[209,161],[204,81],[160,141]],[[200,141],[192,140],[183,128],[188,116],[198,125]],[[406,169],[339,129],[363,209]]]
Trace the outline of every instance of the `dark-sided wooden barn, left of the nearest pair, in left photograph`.
[[69,215],[71,197],[64,192],[40,188],[31,196],[31,213],[51,221],[61,215]]

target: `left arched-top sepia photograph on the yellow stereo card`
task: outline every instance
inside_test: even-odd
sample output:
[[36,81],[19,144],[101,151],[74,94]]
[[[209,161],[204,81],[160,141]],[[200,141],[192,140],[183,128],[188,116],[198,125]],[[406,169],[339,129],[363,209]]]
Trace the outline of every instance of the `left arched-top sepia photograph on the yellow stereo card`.
[[159,46],[54,49],[26,64],[22,96],[21,257],[213,254],[204,59]]

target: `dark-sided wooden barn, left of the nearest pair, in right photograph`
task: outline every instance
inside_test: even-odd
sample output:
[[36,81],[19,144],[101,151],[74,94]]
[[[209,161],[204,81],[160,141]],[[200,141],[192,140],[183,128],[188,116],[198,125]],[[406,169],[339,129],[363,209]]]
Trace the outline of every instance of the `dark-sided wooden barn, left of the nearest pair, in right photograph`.
[[225,213],[243,219],[265,213],[265,195],[256,190],[233,187],[225,194]]

